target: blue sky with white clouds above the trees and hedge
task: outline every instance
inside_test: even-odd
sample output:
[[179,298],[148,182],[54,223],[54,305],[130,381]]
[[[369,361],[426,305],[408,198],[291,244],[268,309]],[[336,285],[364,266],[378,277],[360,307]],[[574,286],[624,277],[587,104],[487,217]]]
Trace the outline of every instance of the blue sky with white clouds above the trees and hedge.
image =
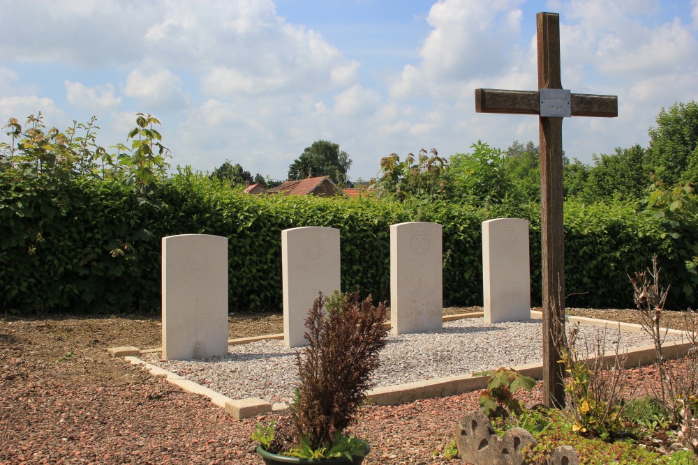
[[617,119],[565,119],[570,158],[646,146],[661,107],[698,100],[697,0],[0,2],[3,123],[95,115],[112,146],[150,113],[200,170],[284,179],[325,139],[367,180],[393,152],[537,143],[535,116],[476,114],[473,91],[536,89],[539,11],[560,13],[565,89],[618,96]]

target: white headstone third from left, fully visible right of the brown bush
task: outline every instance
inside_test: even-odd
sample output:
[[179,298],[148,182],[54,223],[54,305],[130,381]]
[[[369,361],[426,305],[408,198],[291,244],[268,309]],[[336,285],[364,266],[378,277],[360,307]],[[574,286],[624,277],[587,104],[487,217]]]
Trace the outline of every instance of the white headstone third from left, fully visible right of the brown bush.
[[443,328],[441,225],[390,227],[390,324],[393,334]]

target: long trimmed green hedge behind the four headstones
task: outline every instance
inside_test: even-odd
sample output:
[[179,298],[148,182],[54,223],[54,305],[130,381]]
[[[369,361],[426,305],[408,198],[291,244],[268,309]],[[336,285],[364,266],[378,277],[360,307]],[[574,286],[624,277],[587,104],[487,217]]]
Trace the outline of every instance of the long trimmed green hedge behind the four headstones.
[[[26,181],[0,190],[0,310],[132,312],[160,305],[161,237],[216,234],[229,239],[230,310],[281,308],[281,231],[299,226],[341,231],[342,287],[389,299],[389,227],[443,224],[444,304],[482,305],[480,223],[530,221],[531,296],[540,305],[540,211],[376,199],[255,197],[185,172],[143,195],[117,181],[64,185]],[[667,307],[695,298],[681,257],[698,243],[693,225],[672,237],[633,205],[565,204],[567,306],[633,307],[628,273],[653,253],[671,283]]]

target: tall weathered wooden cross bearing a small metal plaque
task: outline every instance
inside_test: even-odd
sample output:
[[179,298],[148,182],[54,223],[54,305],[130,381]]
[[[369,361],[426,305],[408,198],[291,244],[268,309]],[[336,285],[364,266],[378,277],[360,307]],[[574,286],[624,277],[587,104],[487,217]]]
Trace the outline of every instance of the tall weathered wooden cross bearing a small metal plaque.
[[[560,17],[538,13],[538,91],[475,90],[478,113],[539,115],[543,383],[546,406],[564,406],[560,344],[565,334],[563,117],[618,116],[617,96],[570,93],[560,82]],[[556,325],[559,321],[560,325]]]

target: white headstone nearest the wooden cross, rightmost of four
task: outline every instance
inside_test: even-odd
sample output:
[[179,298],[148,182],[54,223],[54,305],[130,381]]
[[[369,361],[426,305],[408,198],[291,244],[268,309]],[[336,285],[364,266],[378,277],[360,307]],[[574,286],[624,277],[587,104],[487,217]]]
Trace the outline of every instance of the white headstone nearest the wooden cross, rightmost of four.
[[527,220],[482,222],[482,284],[486,323],[530,318]]

